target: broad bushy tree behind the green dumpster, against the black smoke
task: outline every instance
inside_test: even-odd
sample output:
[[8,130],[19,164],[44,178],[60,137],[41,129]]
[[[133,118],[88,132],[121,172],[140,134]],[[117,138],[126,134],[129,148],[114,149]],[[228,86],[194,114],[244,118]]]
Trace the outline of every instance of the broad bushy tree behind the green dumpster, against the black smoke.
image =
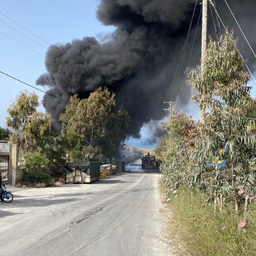
[[59,120],[73,155],[80,160],[85,153],[113,156],[125,140],[129,124],[127,112],[116,107],[115,94],[107,88],[98,88],[88,99],[79,100],[77,95],[70,97]]

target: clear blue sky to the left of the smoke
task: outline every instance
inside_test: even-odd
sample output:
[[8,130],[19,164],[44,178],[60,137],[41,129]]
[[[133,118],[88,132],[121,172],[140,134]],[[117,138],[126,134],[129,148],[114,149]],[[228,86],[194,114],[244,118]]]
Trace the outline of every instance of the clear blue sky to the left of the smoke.
[[[36,87],[36,79],[41,73],[45,73],[45,52],[49,44],[66,44],[84,36],[100,37],[114,30],[97,20],[99,2],[100,0],[2,0],[0,70]],[[40,101],[44,95],[43,92],[18,83],[2,73],[0,88],[1,127],[6,127],[7,108],[16,101],[20,92],[36,92]],[[38,88],[46,91],[46,88]],[[45,111],[44,107],[39,110]]]

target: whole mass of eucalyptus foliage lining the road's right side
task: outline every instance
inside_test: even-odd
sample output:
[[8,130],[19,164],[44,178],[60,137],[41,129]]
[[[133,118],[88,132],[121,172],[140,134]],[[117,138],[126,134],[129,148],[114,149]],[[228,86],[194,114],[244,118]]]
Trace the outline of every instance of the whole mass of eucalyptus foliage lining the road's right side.
[[[220,211],[225,200],[234,201],[236,211],[244,204],[246,217],[248,201],[256,194],[256,103],[249,96],[249,75],[243,69],[232,33],[211,40],[203,71],[187,70],[198,92],[195,101],[202,119],[191,129],[183,116],[174,116],[160,151],[167,191],[187,183],[205,192]],[[216,167],[224,159],[226,168]]]

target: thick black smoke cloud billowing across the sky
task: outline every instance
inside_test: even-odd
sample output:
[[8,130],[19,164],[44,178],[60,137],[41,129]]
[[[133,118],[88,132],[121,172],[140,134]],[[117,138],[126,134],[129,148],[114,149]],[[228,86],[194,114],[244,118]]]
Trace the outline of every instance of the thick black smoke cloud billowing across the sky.
[[[254,47],[254,1],[229,2]],[[192,38],[188,40],[182,75],[175,83],[172,81],[194,6],[195,0],[102,0],[97,17],[106,25],[116,26],[111,39],[101,43],[93,37],[84,37],[66,45],[51,45],[45,59],[47,73],[42,74],[36,83],[49,86],[48,92],[65,102],[74,93],[84,98],[95,88],[106,86],[111,92],[116,92],[117,103],[131,116],[127,135],[136,137],[144,123],[164,117],[164,100],[178,98],[186,105],[191,98],[184,70],[192,49]],[[192,32],[196,31],[200,8],[198,4]],[[229,28],[236,27],[224,1],[216,1],[216,8]],[[209,31],[214,37],[210,11]],[[191,67],[200,63],[200,27],[197,34],[189,63]],[[245,43],[241,45],[243,55],[249,59],[246,55],[249,49],[245,46]],[[57,129],[59,114],[66,105],[64,101],[47,94],[43,100]]]

